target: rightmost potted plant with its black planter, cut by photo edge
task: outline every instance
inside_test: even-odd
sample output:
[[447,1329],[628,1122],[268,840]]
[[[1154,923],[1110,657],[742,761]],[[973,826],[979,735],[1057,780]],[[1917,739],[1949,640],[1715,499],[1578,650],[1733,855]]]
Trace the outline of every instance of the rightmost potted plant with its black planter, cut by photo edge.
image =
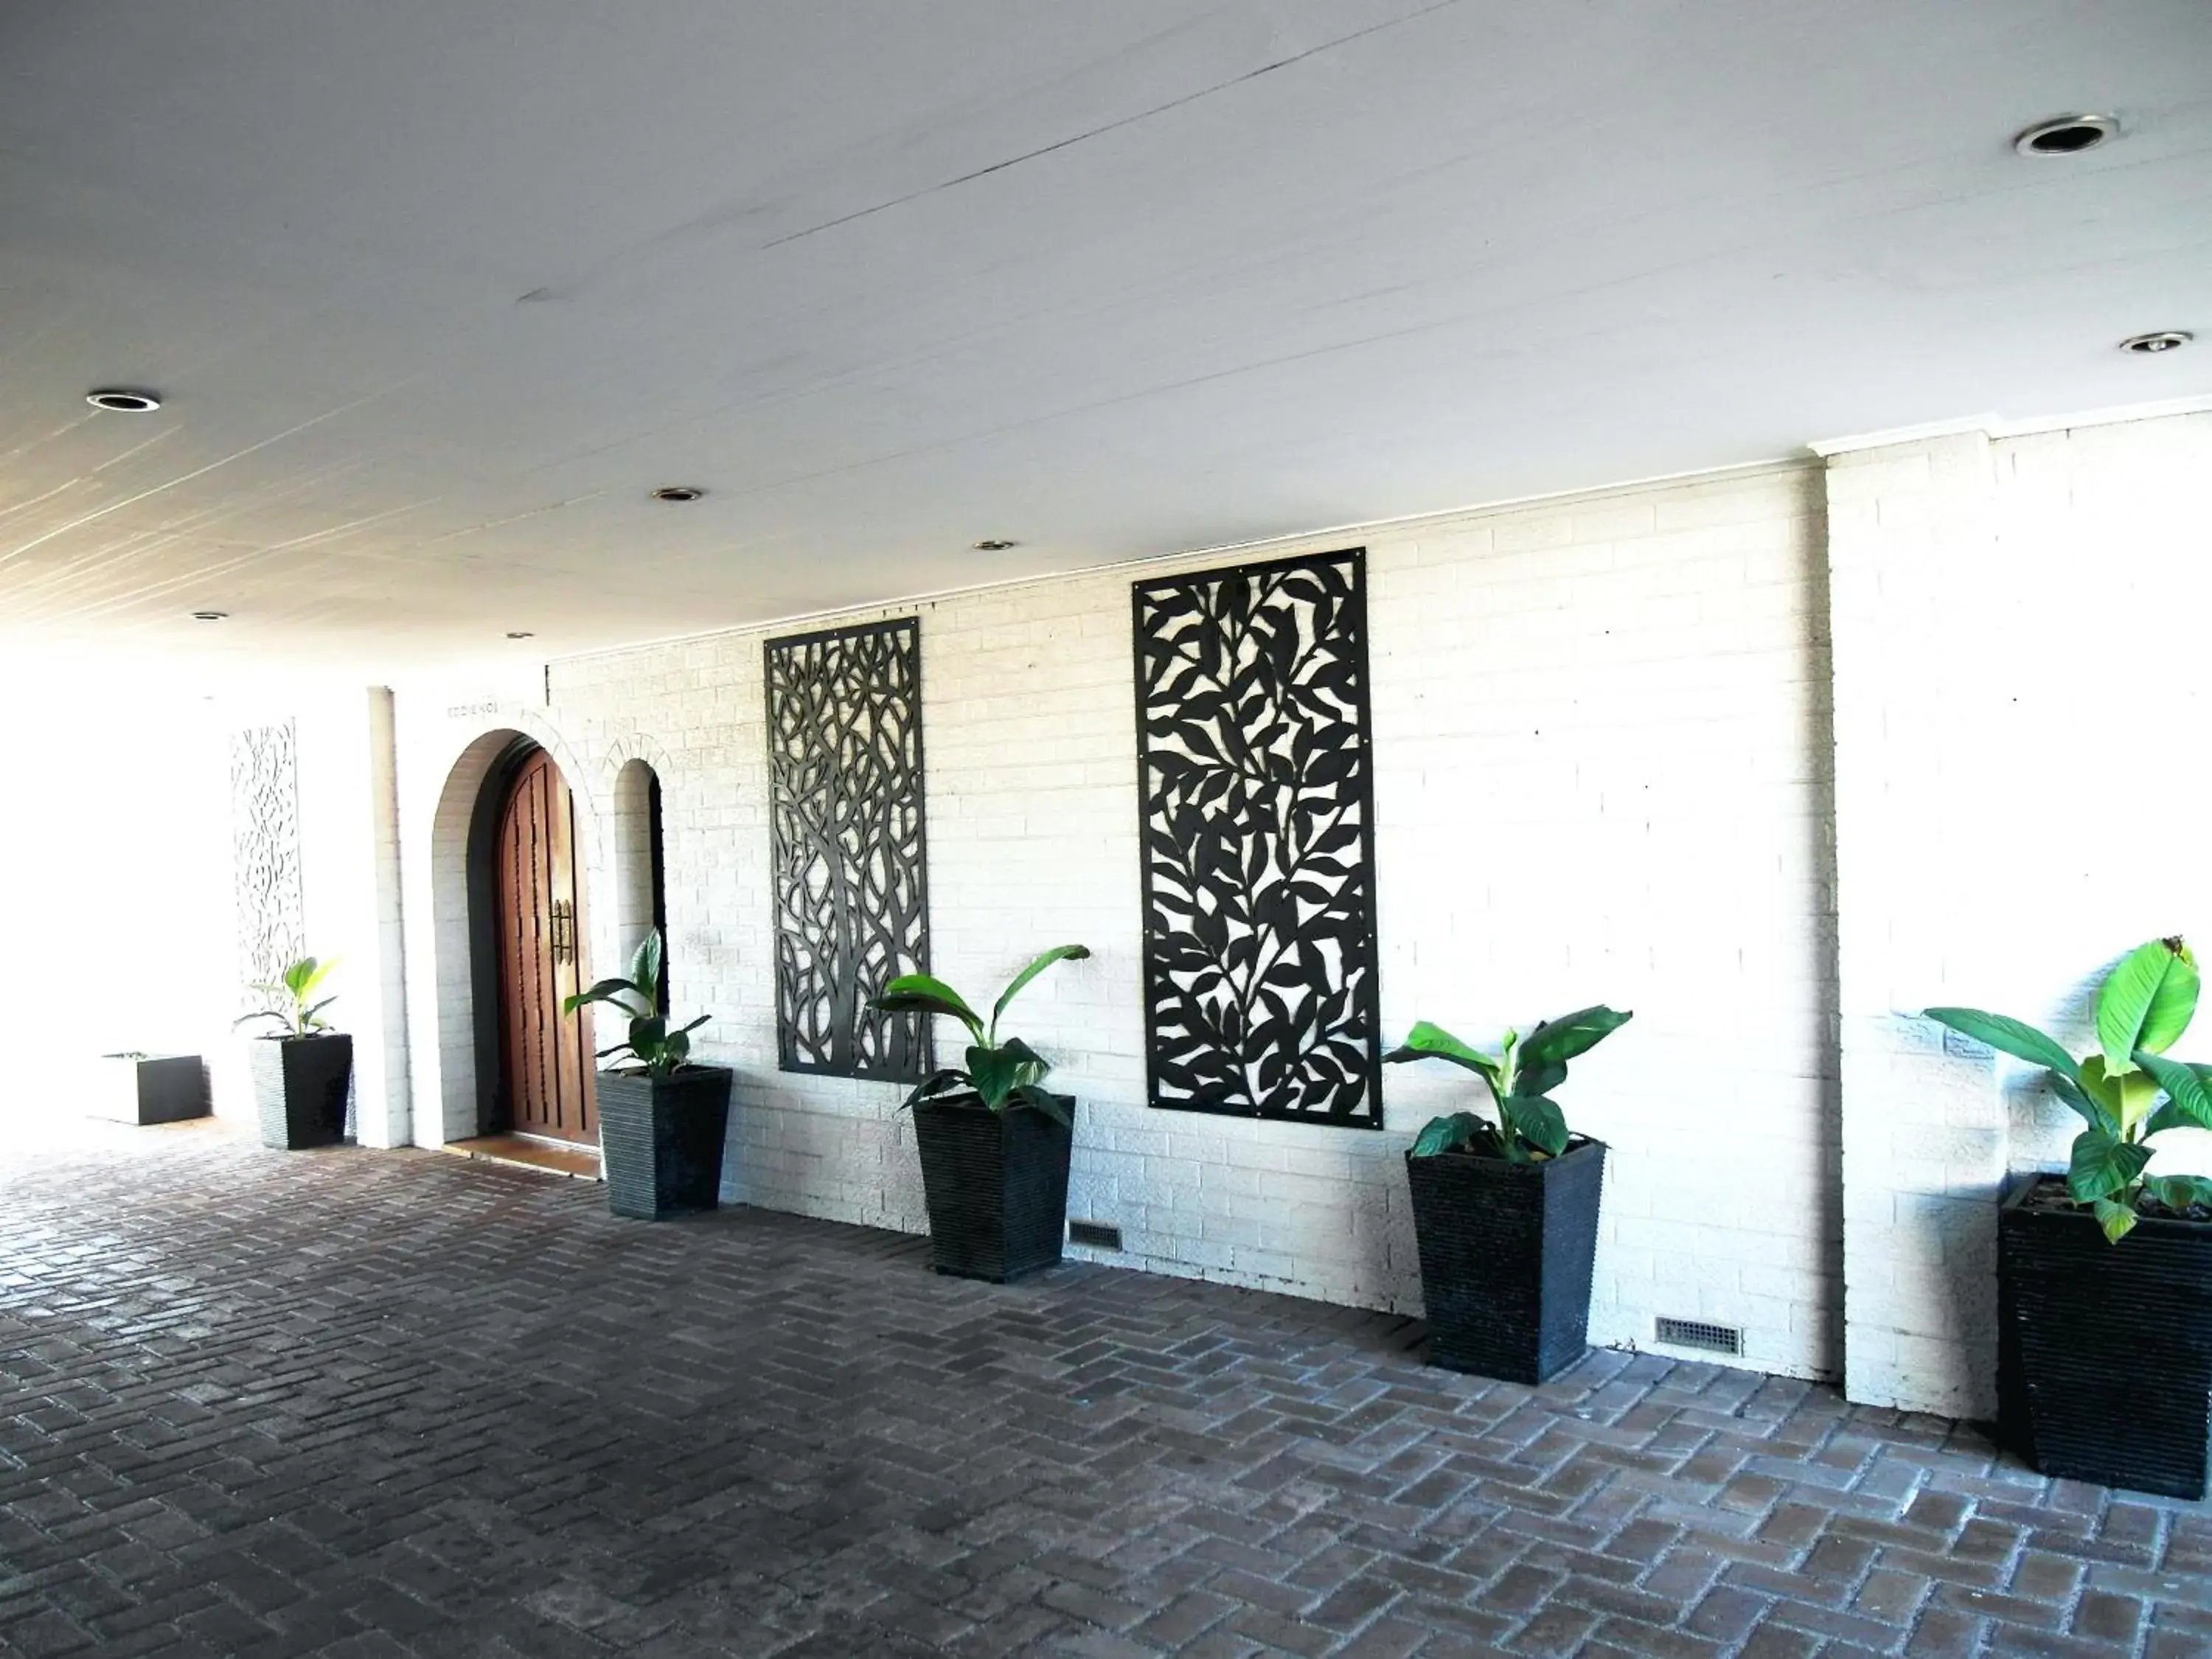
[[2168,1060],[2197,1013],[2179,938],[2128,951],[2097,989],[2099,1053],[1980,1009],[1927,1018],[2042,1066],[2081,1115],[2064,1177],[1997,1210],[2000,1431],[2046,1475],[2205,1495],[2212,1181],[2150,1175],[2150,1141],[2212,1128],[2212,1066]]

